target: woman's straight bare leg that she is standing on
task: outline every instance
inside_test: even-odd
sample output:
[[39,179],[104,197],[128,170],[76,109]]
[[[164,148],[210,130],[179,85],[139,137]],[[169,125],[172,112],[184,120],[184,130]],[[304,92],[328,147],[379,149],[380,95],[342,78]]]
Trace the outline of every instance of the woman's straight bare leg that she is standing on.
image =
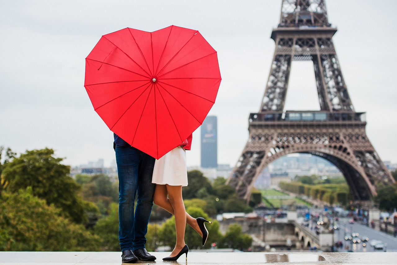
[[182,186],[166,184],[166,187],[175,215],[176,244],[170,255],[170,257],[175,257],[185,246],[186,211],[182,198]]

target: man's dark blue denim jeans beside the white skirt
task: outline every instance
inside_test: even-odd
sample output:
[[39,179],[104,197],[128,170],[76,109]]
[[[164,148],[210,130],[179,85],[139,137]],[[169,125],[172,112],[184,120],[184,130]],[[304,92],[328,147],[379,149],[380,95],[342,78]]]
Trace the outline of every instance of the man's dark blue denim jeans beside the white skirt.
[[[119,241],[121,251],[145,248],[156,184],[154,158],[134,147],[116,145],[119,175]],[[134,215],[135,196],[138,193]]]

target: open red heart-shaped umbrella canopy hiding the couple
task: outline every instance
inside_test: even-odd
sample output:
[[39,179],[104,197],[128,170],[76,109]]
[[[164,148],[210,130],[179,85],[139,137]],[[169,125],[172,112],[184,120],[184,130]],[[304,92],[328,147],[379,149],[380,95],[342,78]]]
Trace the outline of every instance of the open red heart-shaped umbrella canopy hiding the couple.
[[84,87],[112,132],[158,159],[202,124],[220,81],[214,48],[198,31],[170,26],[102,36]]

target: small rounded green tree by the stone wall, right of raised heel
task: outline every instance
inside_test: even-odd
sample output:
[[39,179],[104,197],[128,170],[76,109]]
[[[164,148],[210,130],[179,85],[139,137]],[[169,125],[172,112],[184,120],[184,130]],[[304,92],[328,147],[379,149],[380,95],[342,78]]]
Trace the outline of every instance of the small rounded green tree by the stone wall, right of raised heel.
[[252,238],[241,231],[242,229],[240,225],[231,224],[229,228],[227,228],[226,234],[220,240],[218,248],[247,250],[252,245]]

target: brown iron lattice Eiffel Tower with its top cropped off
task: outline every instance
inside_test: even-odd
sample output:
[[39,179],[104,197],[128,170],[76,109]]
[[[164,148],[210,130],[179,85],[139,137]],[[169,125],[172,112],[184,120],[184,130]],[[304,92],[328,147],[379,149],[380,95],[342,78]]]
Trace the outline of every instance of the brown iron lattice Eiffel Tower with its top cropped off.
[[[324,0],[282,0],[261,108],[249,115],[249,139],[227,180],[241,198],[248,201],[262,170],[289,153],[333,163],[355,201],[368,201],[378,185],[394,182],[365,133],[365,113],[351,103],[332,41],[336,31]],[[319,111],[283,111],[292,60],[313,62]]]

